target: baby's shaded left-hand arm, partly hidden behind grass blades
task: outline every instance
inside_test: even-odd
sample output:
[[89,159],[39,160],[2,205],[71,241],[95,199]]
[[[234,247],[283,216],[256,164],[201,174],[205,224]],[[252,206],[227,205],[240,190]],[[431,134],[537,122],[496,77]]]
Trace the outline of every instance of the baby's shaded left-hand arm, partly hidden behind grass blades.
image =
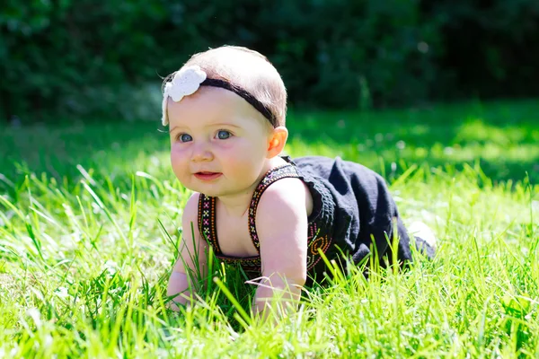
[[[176,303],[187,304],[192,298],[199,278],[206,276],[207,243],[200,237],[198,224],[199,194],[195,193],[187,201],[181,217],[180,256],[172,269],[167,295],[175,296],[171,304],[174,311],[178,310]],[[192,223],[192,230],[191,230]],[[193,238],[194,234],[194,238]]]

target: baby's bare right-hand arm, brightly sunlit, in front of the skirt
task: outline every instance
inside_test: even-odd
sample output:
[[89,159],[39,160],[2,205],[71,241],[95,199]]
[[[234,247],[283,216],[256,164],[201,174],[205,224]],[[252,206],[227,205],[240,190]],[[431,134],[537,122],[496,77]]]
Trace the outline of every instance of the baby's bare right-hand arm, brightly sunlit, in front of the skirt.
[[261,197],[256,228],[264,279],[256,291],[255,313],[270,308],[272,298],[296,308],[307,274],[307,190],[301,180],[283,179]]

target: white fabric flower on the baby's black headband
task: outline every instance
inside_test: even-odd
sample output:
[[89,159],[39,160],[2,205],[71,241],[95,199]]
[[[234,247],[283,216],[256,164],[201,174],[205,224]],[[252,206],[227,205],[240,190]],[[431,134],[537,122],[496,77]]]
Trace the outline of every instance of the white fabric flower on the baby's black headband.
[[174,102],[181,101],[184,96],[197,92],[200,83],[203,83],[206,77],[206,73],[199,66],[187,66],[174,74],[170,83],[165,84],[163,92],[163,126],[168,125],[166,115],[166,101],[168,98],[170,97]]

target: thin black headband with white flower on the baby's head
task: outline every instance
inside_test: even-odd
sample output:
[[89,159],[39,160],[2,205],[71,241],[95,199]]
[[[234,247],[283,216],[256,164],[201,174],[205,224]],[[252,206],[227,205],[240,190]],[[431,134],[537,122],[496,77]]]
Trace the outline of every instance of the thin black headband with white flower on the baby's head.
[[257,109],[265,118],[268,118],[271,126],[278,127],[277,118],[271,112],[266,105],[254,97],[251,92],[244,90],[243,88],[229,83],[225,80],[210,79],[207,74],[200,69],[199,66],[187,66],[176,72],[171,81],[168,81],[164,85],[163,89],[163,126],[168,125],[168,116],[166,114],[166,101],[170,97],[172,101],[179,102],[184,96],[189,96],[197,90],[200,86],[213,86],[219,87],[231,92],[234,92],[243,100],[249,102],[249,104]]

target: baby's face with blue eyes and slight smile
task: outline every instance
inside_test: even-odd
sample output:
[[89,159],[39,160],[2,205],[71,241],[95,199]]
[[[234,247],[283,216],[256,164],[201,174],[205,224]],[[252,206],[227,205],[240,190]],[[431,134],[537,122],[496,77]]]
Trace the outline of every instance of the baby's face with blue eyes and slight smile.
[[202,86],[168,100],[171,162],[186,188],[207,196],[244,194],[267,167],[268,120],[234,92]]

